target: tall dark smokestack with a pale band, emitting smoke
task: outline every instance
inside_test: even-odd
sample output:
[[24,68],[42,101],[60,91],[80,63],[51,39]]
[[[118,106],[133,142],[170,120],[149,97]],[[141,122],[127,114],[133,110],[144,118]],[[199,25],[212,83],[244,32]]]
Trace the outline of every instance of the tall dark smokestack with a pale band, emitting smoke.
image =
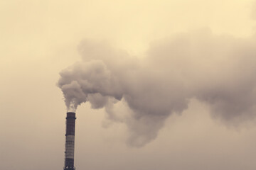
[[75,149],[75,113],[68,112],[66,118],[65,133],[65,166],[64,170],[75,170],[74,149]]

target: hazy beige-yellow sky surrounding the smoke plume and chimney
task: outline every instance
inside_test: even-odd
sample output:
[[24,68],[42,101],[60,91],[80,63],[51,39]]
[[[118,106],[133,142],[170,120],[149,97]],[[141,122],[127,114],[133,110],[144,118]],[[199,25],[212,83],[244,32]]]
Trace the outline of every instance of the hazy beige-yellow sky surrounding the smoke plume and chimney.
[[[214,35],[255,34],[255,1],[0,1],[1,169],[62,169],[65,104],[60,70],[80,60],[81,40],[104,40],[144,57],[151,42],[209,28]],[[127,128],[103,128],[105,111],[77,111],[77,169],[256,168],[255,121],[227,127],[193,100],[171,115],[156,140],[127,147]]]

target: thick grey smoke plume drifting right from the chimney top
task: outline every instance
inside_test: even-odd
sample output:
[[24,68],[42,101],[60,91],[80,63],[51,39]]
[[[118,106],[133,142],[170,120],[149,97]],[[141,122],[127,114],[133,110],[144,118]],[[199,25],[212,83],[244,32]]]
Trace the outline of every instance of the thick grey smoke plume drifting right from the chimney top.
[[[256,38],[183,33],[151,43],[146,57],[132,57],[104,42],[84,40],[82,61],[60,72],[68,109],[89,101],[109,118],[127,124],[127,143],[141,147],[154,140],[172,113],[182,113],[191,98],[208,104],[227,123],[256,113]],[[129,115],[116,113],[124,102]]]

